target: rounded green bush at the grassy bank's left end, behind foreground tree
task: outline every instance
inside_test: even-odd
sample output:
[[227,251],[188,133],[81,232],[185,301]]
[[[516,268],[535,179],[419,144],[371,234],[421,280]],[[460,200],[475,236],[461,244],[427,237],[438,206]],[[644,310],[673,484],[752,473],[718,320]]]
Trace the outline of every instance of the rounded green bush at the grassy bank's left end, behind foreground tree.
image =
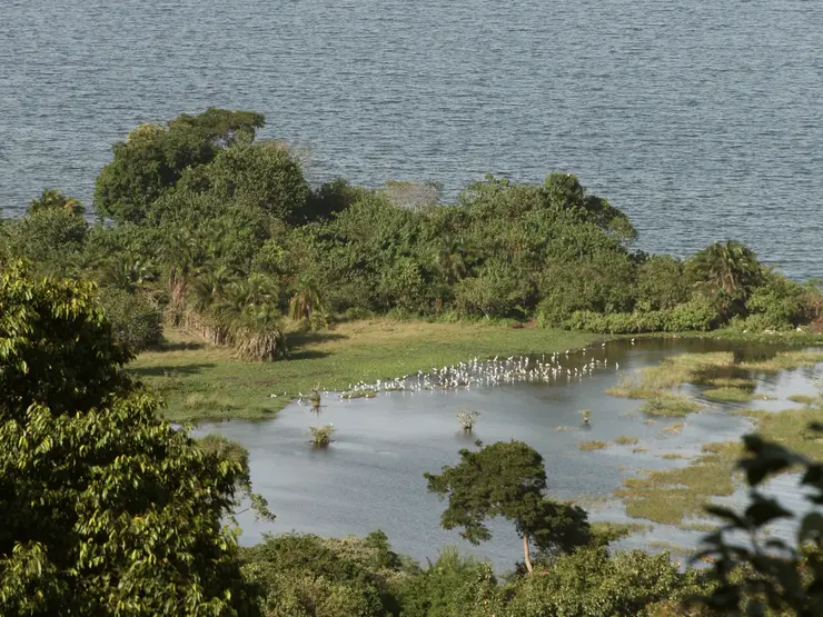
[[98,301],[118,342],[132,351],[160,342],[162,315],[146,297],[107,287],[100,290]]

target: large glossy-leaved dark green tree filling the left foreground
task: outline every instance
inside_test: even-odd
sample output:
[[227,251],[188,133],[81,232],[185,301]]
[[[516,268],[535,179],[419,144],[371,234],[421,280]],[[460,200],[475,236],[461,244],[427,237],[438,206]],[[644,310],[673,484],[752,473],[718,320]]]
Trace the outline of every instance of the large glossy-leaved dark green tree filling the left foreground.
[[240,465],[204,452],[120,370],[93,286],[0,265],[0,614],[256,615]]

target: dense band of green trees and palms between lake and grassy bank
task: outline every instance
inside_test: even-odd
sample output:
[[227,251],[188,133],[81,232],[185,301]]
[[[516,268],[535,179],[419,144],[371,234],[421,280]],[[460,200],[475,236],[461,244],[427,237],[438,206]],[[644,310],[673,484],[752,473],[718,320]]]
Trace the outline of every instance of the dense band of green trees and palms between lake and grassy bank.
[[311,188],[287,147],[256,140],[262,126],[259,113],[220,109],[140,126],[97,178],[98,223],[46,190],[0,227],[0,251],[98,281],[136,349],[157,341],[162,315],[254,359],[282,355],[286,315],[306,328],[393,314],[615,334],[820,319],[819,287],[737,242],[685,261],[632,250],[627,217],[574,176],[489,176],[454,205],[429,185]]

